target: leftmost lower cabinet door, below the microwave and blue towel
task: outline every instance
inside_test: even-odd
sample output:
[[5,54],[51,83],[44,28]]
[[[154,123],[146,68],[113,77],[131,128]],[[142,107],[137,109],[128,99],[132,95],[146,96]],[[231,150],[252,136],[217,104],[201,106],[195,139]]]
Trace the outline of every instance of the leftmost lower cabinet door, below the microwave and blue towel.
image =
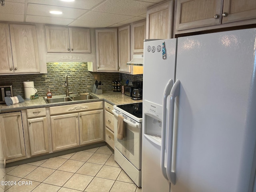
[[26,156],[21,113],[0,114],[0,126],[6,160]]

